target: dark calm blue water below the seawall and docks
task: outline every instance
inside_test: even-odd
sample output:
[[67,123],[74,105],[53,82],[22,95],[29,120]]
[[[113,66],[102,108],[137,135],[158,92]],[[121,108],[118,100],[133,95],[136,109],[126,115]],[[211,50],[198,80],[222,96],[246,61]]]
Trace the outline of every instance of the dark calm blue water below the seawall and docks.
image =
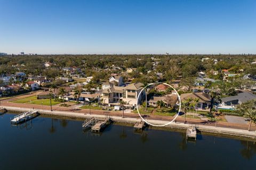
[[110,125],[100,135],[81,121],[36,117],[11,126],[0,116],[0,169],[255,169],[256,142]]

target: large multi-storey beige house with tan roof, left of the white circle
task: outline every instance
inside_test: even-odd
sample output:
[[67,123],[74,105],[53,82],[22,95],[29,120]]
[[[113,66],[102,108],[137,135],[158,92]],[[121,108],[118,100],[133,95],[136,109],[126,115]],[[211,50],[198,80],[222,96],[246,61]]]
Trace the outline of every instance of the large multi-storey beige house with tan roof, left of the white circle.
[[[142,88],[142,83],[132,83],[126,87],[110,87],[102,90],[103,105],[116,106],[120,105],[121,100],[125,101],[125,107],[137,105],[137,98]],[[144,96],[144,92],[139,97],[139,103]]]

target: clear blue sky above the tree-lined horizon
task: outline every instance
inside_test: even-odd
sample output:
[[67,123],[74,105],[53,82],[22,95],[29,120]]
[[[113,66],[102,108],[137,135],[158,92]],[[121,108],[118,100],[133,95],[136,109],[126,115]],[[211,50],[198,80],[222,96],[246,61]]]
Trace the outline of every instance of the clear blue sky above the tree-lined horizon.
[[0,52],[256,54],[256,1],[0,0]]

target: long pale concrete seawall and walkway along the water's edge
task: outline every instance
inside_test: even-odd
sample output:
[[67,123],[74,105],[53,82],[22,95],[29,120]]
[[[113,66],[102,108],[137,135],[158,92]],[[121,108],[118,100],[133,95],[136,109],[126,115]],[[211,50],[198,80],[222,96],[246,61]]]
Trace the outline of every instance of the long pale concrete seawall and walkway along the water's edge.
[[[30,111],[29,108],[20,108],[20,107],[10,107],[10,106],[5,106],[7,111],[10,112],[28,112]],[[114,122],[120,122],[120,123],[130,123],[134,124],[136,122],[140,122],[141,119],[140,117],[138,118],[131,118],[131,117],[118,117],[118,116],[110,116],[110,115],[99,115],[99,114],[83,114],[83,113],[75,113],[75,112],[66,112],[66,111],[43,111],[41,109],[35,109],[35,111],[38,111],[41,115],[46,115],[46,116],[57,116],[57,117],[63,117],[63,118],[71,118],[71,119],[79,119],[79,120],[84,120],[85,118],[89,117],[95,117],[98,119],[105,119],[106,116],[110,117],[111,120]],[[165,124],[167,121],[159,121],[159,120],[147,120],[149,123],[154,123],[154,124]],[[166,125],[162,127],[161,129],[179,129],[179,130],[186,130],[193,124],[184,124],[184,123],[171,123],[169,125]],[[215,128],[214,126],[207,126],[207,125],[199,125],[199,124],[194,124],[196,125],[196,128],[199,132],[207,133],[207,134],[214,134],[214,135],[225,135],[227,137],[238,137],[238,138],[249,138],[249,139],[256,139],[256,131],[247,131],[247,130],[241,130],[241,129],[233,129],[233,128],[221,128],[217,127]],[[154,129],[159,129],[158,127]]]

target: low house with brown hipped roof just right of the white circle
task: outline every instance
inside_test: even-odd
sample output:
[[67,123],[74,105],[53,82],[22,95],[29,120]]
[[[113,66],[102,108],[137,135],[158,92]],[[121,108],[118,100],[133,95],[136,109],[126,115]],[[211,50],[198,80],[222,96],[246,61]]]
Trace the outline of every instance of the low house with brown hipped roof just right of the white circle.
[[188,99],[188,98],[199,99],[196,105],[196,109],[209,109],[211,107],[211,97],[209,94],[206,94],[205,92],[191,92],[188,94],[180,95],[181,102],[182,100]]

